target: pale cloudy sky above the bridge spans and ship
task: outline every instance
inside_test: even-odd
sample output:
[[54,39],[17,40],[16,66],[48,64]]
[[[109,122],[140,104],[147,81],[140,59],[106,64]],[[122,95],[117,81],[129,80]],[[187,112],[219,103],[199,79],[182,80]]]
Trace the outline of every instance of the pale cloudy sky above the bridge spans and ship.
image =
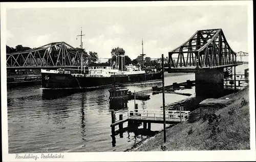
[[150,6],[90,8],[22,8],[6,11],[7,45],[37,48],[65,41],[110,58],[119,47],[135,59],[167,57],[197,30],[221,28],[233,51],[248,52],[247,6]]

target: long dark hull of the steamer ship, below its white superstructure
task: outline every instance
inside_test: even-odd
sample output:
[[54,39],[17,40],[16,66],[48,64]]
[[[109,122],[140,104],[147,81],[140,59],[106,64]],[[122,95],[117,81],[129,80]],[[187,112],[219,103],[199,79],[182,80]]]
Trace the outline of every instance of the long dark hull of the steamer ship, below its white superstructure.
[[135,83],[161,79],[161,73],[134,74],[114,77],[74,77],[70,74],[41,73],[42,88],[99,88],[105,85]]

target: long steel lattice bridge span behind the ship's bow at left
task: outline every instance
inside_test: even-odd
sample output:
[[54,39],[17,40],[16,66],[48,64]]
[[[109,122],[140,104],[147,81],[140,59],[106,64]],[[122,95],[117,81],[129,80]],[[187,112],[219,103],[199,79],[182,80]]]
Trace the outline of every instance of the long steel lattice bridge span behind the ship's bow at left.
[[[6,54],[6,65],[8,68],[29,67],[78,67],[83,58],[89,55],[81,50],[73,48],[66,42],[53,42],[42,47],[23,52]],[[84,63],[88,63],[85,59]]]

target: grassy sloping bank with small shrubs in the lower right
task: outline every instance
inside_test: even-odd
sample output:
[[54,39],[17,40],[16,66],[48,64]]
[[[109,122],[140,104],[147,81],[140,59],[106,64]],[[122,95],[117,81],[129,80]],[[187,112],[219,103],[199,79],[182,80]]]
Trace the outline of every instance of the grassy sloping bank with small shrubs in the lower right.
[[228,106],[166,129],[166,143],[160,132],[130,151],[250,149],[249,87],[220,99],[225,98]]

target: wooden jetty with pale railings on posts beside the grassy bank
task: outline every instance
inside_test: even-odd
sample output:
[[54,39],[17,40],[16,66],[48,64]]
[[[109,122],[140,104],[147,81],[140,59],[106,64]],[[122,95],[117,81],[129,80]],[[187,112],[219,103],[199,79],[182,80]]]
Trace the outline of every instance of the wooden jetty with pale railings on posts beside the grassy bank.
[[[119,126],[119,130],[123,128],[123,123],[128,122],[129,125],[135,123],[143,123],[144,129],[150,129],[151,123],[163,123],[163,110],[151,110],[151,109],[137,109],[138,105],[133,111],[119,113],[119,120],[115,121],[115,111],[111,110],[112,132],[115,132],[115,126]],[[166,124],[178,124],[188,120],[190,111],[181,110],[166,110],[165,111],[165,123]]]

